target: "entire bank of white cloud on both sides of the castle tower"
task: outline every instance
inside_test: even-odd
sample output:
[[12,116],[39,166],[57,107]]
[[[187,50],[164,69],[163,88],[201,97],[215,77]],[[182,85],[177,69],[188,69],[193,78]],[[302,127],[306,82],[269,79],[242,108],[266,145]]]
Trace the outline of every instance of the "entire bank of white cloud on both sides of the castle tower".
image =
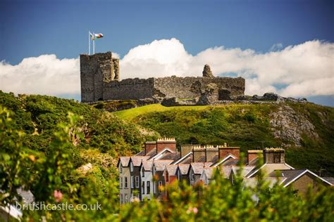
[[[285,48],[276,44],[267,53],[220,46],[197,55],[187,53],[178,39],[155,40],[132,48],[120,60],[120,77],[201,76],[206,63],[216,75],[233,72],[244,77],[249,95],[268,91],[295,97],[334,95],[334,44],[318,40]],[[78,58],[59,60],[56,55],[25,58],[18,65],[1,62],[0,89],[80,93],[79,66]]]

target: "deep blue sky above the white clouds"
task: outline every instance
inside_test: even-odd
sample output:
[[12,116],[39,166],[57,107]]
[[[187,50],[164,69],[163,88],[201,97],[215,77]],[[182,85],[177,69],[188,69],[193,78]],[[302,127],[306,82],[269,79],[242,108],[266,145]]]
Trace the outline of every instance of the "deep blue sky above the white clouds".
[[[123,58],[156,39],[178,39],[197,55],[206,48],[266,53],[318,39],[334,42],[334,1],[1,1],[0,60],[87,53],[87,32],[101,32],[97,51]],[[333,95],[318,103],[334,105]],[[309,96],[312,100],[319,95]],[[316,100],[317,102],[317,100]]]

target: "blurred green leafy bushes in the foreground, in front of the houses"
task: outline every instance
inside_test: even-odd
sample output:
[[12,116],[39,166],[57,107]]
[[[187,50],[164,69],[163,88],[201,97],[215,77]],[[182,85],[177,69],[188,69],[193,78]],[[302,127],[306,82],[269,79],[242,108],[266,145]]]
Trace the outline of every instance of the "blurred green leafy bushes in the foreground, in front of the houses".
[[[1,206],[20,201],[16,188],[32,189],[37,201],[44,204],[101,204],[101,210],[68,211],[25,210],[24,219],[39,221],[333,221],[334,190],[311,190],[304,197],[278,185],[268,188],[259,183],[255,189],[244,188],[238,176],[235,185],[216,175],[209,186],[194,190],[185,184],[168,187],[169,199],[134,202],[119,207],[118,183],[87,177],[85,185],[70,181],[76,173],[70,164],[75,153],[73,143],[82,139],[77,123],[80,118],[68,115],[68,124],[58,124],[50,142],[53,152],[35,157],[34,151],[20,143],[22,133],[13,129],[11,112],[0,108],[0,193]],[[93,171],[93,174],[99,174]],[[104,189],[101,189],[104,187]],[[54,191],[63,191],[63,196]]]

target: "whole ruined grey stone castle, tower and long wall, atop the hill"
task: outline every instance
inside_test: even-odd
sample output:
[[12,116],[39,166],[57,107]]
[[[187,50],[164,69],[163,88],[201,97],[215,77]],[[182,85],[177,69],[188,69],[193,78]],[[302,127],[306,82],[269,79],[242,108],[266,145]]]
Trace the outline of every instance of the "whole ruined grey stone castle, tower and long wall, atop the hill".
[[120,80],[119,59],[111,52],[80,55],[81,101],[140,100],[144,98],[194,99],[214,85],[216,99],[226,100],[243,96],[245,79],[242,77],[162,77]]

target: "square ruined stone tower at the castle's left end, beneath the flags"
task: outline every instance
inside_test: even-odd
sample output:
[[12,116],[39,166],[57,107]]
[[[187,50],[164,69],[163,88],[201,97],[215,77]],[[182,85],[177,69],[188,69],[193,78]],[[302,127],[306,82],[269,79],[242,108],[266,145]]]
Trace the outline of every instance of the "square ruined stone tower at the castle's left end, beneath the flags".
[[80,55],[81,101],[103,100],[104,82],[120,79],[119,59],[112,53]]

